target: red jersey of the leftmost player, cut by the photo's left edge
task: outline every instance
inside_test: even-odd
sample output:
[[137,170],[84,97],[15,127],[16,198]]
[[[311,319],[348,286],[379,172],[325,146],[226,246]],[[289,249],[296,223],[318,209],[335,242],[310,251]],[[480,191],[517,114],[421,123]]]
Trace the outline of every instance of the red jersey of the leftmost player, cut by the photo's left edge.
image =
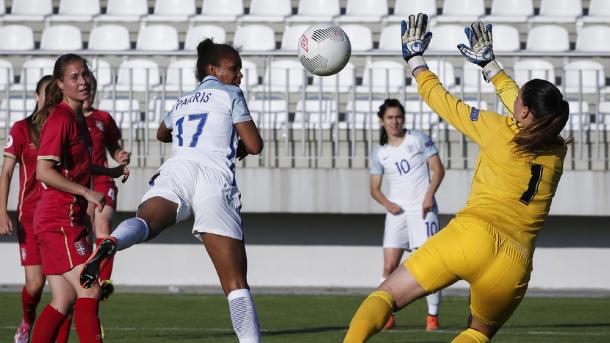
[[32,143],[29,124],[25,119],[16,122],[11,128],[4,147],[4,156],[14,158],[19,163],[17,215],[19,222],[31,222],[34,219],[36,203],[40,199],[36,182],[38,147]]

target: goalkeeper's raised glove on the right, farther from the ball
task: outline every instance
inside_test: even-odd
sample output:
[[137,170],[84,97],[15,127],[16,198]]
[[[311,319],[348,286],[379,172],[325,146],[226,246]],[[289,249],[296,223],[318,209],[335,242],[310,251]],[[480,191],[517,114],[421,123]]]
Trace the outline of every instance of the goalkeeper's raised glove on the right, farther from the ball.
[[475,21],[470,27],[464,28],[470,47],[464,44],[457,46],[469,62],[483,68],[483,78],[487,82],[502,70],[495,60],[491,28],[491,24]]

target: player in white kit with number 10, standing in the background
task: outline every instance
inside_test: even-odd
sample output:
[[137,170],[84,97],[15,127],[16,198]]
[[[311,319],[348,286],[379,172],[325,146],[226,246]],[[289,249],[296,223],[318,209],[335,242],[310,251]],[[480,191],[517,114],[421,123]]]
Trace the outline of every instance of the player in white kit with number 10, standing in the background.
[[[386,210],[383,235],[383,278],[397,267],[404,250],[419,248],[439,230],[434,194],[445,169],[434,142],[423,132],[405,129],[405,109],[396,99],[386,99],[377,113],[380,145],[371,153],[371,196]],[[430,175],[430,170],[432,175]],[[387,196],[381,180],[389,182]],[[440,292],[430,294],[426,330],[438,329]],[[392,315],[386,328],[394,326]]]

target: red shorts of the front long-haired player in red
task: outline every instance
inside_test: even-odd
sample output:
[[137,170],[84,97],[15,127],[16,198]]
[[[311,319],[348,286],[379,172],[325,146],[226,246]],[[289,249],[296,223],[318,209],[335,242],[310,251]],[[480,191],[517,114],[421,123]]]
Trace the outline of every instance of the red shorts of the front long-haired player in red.
[[42,274],[61,275],[91,256],[84,226],[65,226],[36,233],[42,257]]

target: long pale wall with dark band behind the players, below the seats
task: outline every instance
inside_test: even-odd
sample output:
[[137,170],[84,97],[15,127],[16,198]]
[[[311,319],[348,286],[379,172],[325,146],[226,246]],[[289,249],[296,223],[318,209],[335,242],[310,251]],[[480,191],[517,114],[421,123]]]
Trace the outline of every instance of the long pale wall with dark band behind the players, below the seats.
[[[134,169],[120,185],[115,222],[133,215],[153,169]],[[449,170],[438,200],[446,224],[464,203],[471,172]],[[13,178],[16,180],[16,178]],[[370,288],[381,276],[384,215],[368,195],[363,169],[239,170],[244,228],[253,287]],[[607,173],[568,171],[538,238],[530,286],[610,289],[610,189]],[[14,186],[16,187],[16,186]],[[16,189],[16,188],[13,188]],[[10,208],[15,208],[12,192]],[[218,285],[192,222],[153,242],[121,252],[118,285]],[[0,238],[0,285],[23,272],[15,237]],[[453,287],[464,288],[464,283]]]

